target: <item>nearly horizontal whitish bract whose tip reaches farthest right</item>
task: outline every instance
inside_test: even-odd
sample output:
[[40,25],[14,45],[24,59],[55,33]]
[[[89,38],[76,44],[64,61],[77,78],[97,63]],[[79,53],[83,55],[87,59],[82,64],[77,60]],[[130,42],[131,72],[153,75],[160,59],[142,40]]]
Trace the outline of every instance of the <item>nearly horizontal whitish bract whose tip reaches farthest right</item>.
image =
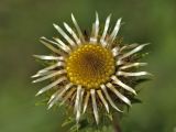
[[147,72],[136,72],[136,73],[117,72],[117,75],[118,76],[127,76],[127,77],[129,77],[129,76],[136,77],[136,76],[144,76],[144,75],[151,75],[151,74]]

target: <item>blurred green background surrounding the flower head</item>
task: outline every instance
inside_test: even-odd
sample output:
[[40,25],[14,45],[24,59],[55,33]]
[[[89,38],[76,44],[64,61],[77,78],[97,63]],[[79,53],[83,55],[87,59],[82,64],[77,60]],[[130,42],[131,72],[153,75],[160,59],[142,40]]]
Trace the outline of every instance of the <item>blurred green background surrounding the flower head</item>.
[[143,88],[143,105],[134,105],[122,120],[123,132],[176,132],[176,1],[175,0],[0,0],[0,132],[61,132],[61,110],[35,107],[43,85],[30,76],[41,67],[33,54],[50,53],[40,36],[56,33],[52,23],[72,24],[74,12],[81,29],[90,30],[99,12],[103,24],[123,18],[125,43],[152,44],[145,58],[155,76]]

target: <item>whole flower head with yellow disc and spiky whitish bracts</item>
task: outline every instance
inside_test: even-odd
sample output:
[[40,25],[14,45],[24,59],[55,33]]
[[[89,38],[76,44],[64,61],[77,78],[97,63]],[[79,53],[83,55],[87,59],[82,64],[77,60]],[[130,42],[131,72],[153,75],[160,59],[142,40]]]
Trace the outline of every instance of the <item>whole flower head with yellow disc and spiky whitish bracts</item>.
[[114,29],[109,33],[111,15],[108,15],[105,28],[100,32],[99,16],[96,12],[96,22],[89,37],[81,32],[74,14],[72,20],[75,25],[72,29],[64,22],[67,33],[58,25],[54,28],[63,38],[48,40],[41,37],[41,42],[48,47],[52,55],[34,55],[34,57],[47,61],[48,66],[38,70],[33,82],[51,79],[52,82],[42,88],[36,96],[55,89],[48,100],[48,108],[55,103],[69,103],[72,101],[76,121],[91,107],[97,124],[99,111],[103,107],[109,113],[111,109],[123,112],[118,103],[131,106],[131,97],[136,91],[131,86],[133,78],[150,75],[147,72],[136,72],[139,66],[146,63],[136,62],[136,53],[148,44],[121,45],[117,41],[117,34],[121,26],[118,19]]

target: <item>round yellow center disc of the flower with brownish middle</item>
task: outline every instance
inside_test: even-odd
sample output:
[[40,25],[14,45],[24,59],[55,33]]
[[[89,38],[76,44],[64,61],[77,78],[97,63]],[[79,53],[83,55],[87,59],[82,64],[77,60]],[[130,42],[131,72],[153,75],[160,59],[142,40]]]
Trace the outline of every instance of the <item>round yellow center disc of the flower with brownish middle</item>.
[[110,50],[97,44],[85,44],[66,61],[69,80],[87,89],[99,88],[114,73],[114,58]]

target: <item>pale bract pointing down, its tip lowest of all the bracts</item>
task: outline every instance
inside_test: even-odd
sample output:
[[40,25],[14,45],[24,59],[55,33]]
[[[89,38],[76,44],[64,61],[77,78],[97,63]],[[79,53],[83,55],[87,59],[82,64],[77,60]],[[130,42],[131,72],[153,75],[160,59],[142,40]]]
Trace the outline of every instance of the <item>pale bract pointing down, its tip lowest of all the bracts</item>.
[[90,95],[91,95],[92,110],[94,110],[95,119],[98,124],[99,123],[99,114],[98,114],[98,108],[97,108],[97,101],[96,101],[96,90],[90,89]]

